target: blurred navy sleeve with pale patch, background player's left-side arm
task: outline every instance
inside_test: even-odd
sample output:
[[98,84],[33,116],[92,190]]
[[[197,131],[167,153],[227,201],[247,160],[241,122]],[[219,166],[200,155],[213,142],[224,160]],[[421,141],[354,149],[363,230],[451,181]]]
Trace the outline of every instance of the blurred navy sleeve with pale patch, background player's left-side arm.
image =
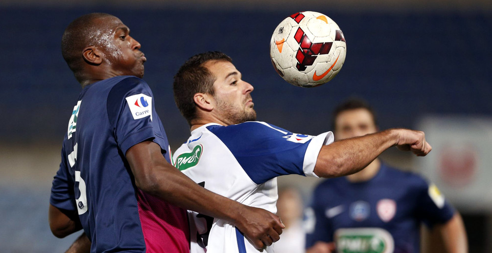
[[326,217],[326,206],[323,205],[322,199],[326,196],[324,190],[317,187],[313,192],[311,206],[306,211],[307,231],[306,231],[306,249],[312,247],[316,242],[332,242],[333,229],[330,220]]

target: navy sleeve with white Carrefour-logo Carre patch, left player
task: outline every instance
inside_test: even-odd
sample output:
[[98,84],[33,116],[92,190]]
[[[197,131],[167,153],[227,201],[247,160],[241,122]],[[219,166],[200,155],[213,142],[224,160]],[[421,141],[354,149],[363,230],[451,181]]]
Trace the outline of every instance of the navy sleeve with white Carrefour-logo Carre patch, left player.
[[108,118],[123,154],[135,144],[152,140],[167,149],[165,134],[155,112],[152,91],[147,83],[128,77],[108,94]]

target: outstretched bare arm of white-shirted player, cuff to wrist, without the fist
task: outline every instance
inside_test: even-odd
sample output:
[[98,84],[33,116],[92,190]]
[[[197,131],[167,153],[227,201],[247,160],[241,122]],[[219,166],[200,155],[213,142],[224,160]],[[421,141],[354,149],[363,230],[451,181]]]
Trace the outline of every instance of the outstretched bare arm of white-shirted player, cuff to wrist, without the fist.
[[355,173],[368,166],[384,150],[395,145],[397,139],[397,132],[390,129],[335,141],[321,148],[314,173],[320,177],[337,177]]

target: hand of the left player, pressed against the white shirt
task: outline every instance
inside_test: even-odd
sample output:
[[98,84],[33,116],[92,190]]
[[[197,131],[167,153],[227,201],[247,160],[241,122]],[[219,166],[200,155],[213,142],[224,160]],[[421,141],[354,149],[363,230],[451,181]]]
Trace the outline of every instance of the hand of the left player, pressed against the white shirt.
[[264,249],[277,242],[285,228],[277,215],[256,207],[246,206],[240,210],[240,221],[234,225],[257,249]]

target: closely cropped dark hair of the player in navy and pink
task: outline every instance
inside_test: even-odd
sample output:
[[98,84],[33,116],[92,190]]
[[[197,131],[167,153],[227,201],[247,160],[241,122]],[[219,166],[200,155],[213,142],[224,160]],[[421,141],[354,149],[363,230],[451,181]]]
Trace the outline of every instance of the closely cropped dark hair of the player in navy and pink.
[[98,36],[94,36],[99,27],[93,21],[108,16],[113,15],[107,13],[86,14],[72,21],[63,32],[62,56],[79,82],[82,81],[81,72],[84,62],[82,51],[88,46],[96,45],[99,39]]

